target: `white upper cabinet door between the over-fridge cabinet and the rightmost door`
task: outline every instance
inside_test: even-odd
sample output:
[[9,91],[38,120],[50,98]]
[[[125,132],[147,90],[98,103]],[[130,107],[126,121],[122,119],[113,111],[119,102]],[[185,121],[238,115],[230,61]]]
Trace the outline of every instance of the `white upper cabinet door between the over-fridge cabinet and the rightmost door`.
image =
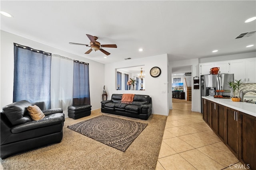
[[246,60],[230,61],[230,74],[234,74],[234,80],[246,81]]

